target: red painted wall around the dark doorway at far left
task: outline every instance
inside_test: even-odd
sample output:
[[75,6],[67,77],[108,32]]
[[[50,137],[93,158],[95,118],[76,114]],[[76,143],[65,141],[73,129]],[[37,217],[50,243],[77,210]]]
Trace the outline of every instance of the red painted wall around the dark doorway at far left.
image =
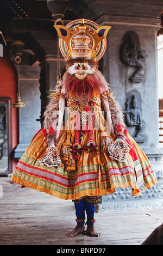
[[[17,74],[14,64],[9,58],[8,48],[3,48],[3,57],[0,57],[0,97],[10,97],[12,103],[16,103]],[[12,108],[12,149],[18,144],[18,109]],[[12,170],[16,166],[16,159],[12,159]]]

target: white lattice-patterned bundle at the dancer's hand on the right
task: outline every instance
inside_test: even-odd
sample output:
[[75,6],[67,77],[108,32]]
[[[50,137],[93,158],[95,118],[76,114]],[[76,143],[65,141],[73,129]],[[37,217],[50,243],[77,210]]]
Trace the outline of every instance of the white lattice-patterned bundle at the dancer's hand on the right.
[[116,139],[115,142],[109,145],[108,152],[112,160],[123,162],[127,159],[129,147],[122,139]]

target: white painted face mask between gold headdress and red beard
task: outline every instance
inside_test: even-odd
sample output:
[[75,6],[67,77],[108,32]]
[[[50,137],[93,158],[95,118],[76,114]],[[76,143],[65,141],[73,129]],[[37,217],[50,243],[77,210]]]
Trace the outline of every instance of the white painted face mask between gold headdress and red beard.
[[67,72],[79,80],[84,80],[87,74],[93,74],[95,70],[97,70],[97,66],[91,66],[88,63],[74,63],[67,68]]

